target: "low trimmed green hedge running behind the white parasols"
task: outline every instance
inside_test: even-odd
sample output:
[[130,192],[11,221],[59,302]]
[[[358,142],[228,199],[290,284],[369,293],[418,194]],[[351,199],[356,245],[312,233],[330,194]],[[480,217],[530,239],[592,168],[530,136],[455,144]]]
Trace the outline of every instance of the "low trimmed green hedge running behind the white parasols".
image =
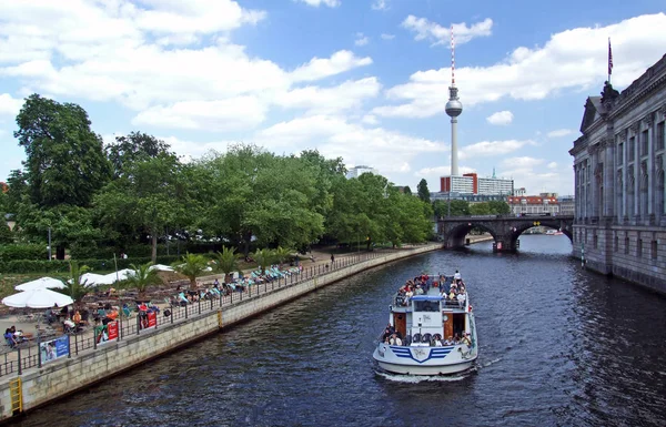
[[[178,255],[158,256],[158,264],[170,265],[178,261]],[[113,271],[115,265],[113,258],[111,260],[77,260],[79,265],[87,265],[92,272],[95,271]],[[131,264],[145,264],[150,262],[149,257],[128,257],[127,260],[117,260],[118,270],[129,268]],[[33,260],[12,260],[8,262],[0,262],[0,273],[68,273],[69,261],[53,260],[53,261],[33,261]]]

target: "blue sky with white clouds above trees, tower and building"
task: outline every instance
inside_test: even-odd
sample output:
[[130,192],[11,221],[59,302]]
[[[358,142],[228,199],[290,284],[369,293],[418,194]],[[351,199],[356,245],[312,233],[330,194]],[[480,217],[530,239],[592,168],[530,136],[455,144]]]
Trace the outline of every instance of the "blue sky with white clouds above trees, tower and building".
[[230,144],[316,149],[414,191],[460,172],[573,194],[583,105],[666,53],[663,0],[2,0],[0,181],[31,93],[81,105],[104,142],[141,131],[184,160]]

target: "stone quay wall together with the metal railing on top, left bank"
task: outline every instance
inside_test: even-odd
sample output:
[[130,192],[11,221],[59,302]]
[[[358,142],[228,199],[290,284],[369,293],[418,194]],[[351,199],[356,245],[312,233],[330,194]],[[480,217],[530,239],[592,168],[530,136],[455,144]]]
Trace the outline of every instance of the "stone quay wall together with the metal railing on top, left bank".
[[103,345],[92,336],[70,336],[67,357],[47,363],[36,350],[18,355],[16,362],[8,360],[0,369],[0,420],[138,367],[364,270],[440,248],[441,244],[424,244],[340,255],[334,263],[315,260],[307,265],[306,261],[300,274],[249,286],[242,293],[170,307],[170,316],[158,316],[155,325],[147,329],[141,329],[135,321],[125,321],[119,326],[119,338]]

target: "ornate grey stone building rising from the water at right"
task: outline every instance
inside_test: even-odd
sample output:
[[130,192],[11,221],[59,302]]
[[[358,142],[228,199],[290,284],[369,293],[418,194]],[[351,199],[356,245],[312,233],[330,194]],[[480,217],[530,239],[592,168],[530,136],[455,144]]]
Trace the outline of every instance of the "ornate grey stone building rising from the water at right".
[[666,55],[622,93],[585,104],[574,156],[574,255],[666,293]]

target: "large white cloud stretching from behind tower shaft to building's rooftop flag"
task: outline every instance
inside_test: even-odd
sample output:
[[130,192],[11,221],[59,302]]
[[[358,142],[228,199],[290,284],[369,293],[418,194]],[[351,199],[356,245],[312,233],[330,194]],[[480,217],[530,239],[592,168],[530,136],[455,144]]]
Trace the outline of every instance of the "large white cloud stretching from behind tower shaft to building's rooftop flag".
[[[567,89],[597,92],[606,79],[608,37],[614,41],[614,83],[622,88],[664,54],[660,40],[666,39],[666,14],[646,14],[607,27],[563,31],[553,34],[543,47],[517,48],[493,65],[458,67],[456,83],[461,101],[468,106],[503,98],[542,100]],[[386,91],[390,101],[402,103],[379,106],[373,113],[407,118],[444,113],[442,100],[448,98],[450,79],[448,68],[417,71],[407,83]]]

